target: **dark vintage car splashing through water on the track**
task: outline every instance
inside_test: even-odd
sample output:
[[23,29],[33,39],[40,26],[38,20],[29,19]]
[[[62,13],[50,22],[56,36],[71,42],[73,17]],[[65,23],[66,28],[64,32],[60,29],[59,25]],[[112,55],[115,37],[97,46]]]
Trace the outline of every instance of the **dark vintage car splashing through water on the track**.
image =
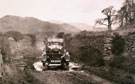
[[45,42],[45,49],[43,51],[44,69],[48,69],[50,66],[62,66],[64,69],[68,69],[70,55],[66,49],[64,49],[63,39],[48,39]]

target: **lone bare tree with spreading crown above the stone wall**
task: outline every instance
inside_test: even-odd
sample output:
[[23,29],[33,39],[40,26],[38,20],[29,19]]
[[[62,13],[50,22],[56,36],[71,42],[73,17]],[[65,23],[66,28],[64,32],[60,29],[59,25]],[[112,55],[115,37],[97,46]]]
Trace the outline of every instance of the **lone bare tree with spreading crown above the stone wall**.
[[102,19],[97,19],[96,20],[96,25],[105,25],[107,26],[108,30],[112,30],[112,24],[115,20],[113,16],[116,13],[116,10],[113,10],[113,6],[107,7],[101,11],[106,17]]

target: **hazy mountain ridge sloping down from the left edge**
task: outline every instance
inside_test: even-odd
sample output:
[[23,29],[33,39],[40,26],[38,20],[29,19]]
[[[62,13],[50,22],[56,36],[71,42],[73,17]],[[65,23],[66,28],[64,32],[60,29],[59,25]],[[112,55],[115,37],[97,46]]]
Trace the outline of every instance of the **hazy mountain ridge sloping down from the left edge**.
[[0,31],[19,31],[21,33],[77,33],[80,30],[70,24],[56,24],[42,21],[33,17],[7,15],[0,18]]

